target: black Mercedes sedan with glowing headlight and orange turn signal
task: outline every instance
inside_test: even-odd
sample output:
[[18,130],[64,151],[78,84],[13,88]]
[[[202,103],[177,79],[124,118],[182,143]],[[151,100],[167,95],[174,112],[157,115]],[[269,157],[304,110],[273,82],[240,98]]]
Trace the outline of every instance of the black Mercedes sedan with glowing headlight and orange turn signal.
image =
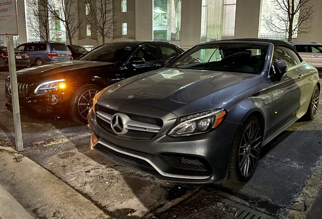
[[[17,72],[21,112],[34,117],[87,122],[92,99],[101,89],[165,65],[183,52],[163,42],[128,41],[102,45],[79,60],[53,63]],[[6,107],[12,110],[10,78]]]

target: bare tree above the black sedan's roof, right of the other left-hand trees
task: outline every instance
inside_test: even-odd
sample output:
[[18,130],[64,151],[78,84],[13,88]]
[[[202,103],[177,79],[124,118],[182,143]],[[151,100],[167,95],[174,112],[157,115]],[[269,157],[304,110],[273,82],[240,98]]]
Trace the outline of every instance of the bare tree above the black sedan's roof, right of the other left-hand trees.
[[91,24],[91,30],[98,33],[105,44],[105,38],[113,35],[112,0],[83,0],[88,15],[85,19]]

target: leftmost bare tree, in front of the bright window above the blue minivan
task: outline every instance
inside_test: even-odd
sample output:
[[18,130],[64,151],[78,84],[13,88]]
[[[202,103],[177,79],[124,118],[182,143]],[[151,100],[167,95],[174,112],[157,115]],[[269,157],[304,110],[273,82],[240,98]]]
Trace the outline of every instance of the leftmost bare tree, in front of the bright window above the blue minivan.
[[[26,0],[26,24],[30,35],[39,37],[45,42],[50,39],[50,20],[48,0]],[[46,7],[44,7],[46,6]]]

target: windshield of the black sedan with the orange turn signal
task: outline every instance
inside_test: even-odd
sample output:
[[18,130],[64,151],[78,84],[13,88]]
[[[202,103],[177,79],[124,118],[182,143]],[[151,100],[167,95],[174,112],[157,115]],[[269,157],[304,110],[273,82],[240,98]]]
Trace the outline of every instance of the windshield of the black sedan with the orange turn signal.
[[100,62],[118,62],[126,56],[130,50],[137,44],[105,44],[99,48],[87,53],[79,60],[83,61],[100,61]]

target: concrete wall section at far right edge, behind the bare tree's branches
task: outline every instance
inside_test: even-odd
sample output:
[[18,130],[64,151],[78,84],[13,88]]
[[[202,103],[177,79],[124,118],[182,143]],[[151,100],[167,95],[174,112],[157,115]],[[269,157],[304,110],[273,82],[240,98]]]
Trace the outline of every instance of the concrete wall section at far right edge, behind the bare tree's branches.
[[[322,43],[322,29],[321,29],[321,20],[322,20],[322,1],[321,0],[311,0],[309,2],[313,9],[315,9],[315,12],[312,14],[313,20],[311,23],[303,24],[301,27],[308,27],[311,26],[311,32],[310,33],[299,33],[297,35],[297,42],[315,42],[315,43]],[[301,13],[301,12],[300,12]]]

